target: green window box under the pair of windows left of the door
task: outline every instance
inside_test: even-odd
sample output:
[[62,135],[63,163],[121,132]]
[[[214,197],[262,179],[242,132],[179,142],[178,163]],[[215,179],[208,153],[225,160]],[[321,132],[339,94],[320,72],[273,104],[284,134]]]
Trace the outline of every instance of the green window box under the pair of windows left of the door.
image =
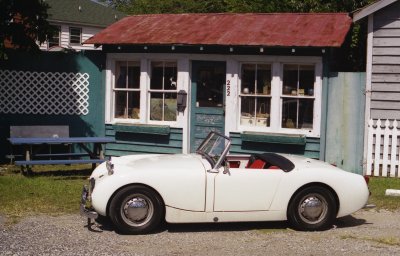
[[119,133],[145,133],[156,135],[169,135],[169,125],[149,125],[149,124],[114,124],[115,132]]

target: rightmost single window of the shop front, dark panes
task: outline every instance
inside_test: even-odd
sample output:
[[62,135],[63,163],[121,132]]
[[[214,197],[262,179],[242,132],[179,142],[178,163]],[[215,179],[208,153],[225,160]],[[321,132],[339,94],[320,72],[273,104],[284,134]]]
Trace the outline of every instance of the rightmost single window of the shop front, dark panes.
[[283,66],[282,128],[313,128],[314,69],[314,65]]

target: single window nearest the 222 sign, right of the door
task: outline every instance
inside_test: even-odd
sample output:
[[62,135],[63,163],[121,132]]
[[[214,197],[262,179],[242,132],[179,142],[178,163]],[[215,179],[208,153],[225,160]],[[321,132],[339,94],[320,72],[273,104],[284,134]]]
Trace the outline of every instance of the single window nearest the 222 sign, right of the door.
[[271,111],[271,65],[243,64],[240,93],[240,124],[269,126]]

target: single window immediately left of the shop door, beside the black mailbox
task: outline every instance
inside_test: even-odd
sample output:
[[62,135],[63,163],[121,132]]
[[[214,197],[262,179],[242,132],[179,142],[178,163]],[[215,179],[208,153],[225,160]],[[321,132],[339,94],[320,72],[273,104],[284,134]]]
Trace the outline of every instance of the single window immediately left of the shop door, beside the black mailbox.
[[176,62],[151,63],[150,120],[176,121]]

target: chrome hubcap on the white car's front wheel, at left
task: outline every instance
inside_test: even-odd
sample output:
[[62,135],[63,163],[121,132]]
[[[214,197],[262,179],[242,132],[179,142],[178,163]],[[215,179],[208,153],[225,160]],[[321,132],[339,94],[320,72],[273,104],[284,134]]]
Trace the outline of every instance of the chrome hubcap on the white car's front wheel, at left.
[[131,226],[142,226],[152,217],[154,207],[151,200],[144,195],[133,195],[127,198],[121,208],[124,221]]

